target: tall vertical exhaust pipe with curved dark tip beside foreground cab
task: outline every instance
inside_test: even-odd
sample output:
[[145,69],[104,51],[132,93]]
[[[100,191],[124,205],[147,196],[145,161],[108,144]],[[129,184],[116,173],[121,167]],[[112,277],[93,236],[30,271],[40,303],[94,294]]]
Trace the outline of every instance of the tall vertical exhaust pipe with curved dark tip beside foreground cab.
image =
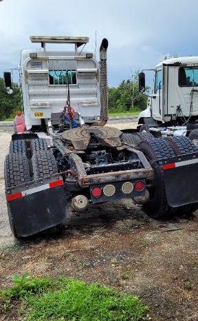
[[104,126],[108,120],[108,95],[107,95],[107,48],[108,40],[102,39],[100,45],[100,122],[98,126]]

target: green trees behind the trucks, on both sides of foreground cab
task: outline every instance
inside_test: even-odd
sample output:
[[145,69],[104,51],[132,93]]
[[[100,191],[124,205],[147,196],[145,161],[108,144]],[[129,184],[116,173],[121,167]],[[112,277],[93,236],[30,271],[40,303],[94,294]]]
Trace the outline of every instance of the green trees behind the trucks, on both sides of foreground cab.
[[[0,121],[14,118],[21,110],[21,92],[19,85],[13,84],[12,94],[5,90],[3,78],[0,78]],[[146,88],[147,92],[149,88]],[[109,112],[138,112],[146,108],[147,98],[138,90],[138,73],[132,79],[123,80],[118,87],[108,88]]]

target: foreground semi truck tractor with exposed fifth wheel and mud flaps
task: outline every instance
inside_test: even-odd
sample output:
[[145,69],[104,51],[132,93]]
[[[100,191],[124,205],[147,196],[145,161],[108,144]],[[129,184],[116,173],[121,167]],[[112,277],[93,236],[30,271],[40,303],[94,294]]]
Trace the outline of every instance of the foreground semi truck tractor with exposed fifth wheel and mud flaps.
[[[41,49],[21,51],[23,107],[5,158],[14,236],[58,230],[71,210],[80,214],[90,205],[122,198],[142,204],[154,218],[195,211],[198,149],[188,137],[167,140],[106,125],[107,39],[99,62],[83,50],[87,37],[30,40]],[[48,43],[74,45],[74,50],[49,50]],[[12,89],[9,72],[4,79]]]

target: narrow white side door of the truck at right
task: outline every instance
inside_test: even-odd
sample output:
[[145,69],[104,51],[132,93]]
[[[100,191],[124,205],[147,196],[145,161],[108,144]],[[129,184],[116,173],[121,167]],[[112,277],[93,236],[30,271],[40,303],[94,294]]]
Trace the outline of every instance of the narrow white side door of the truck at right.
[[152,94],[152,117],[162,121],[162,69],[155,72],[155,86]]

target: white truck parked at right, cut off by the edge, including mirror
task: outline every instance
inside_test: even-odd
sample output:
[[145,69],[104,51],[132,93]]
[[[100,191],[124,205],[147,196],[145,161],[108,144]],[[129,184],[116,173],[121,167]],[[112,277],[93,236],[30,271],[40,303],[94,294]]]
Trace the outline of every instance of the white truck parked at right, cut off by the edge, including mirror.
[[[168,58],[153,72],[152,94],[138,119],[140,131],[187,136],[198,145],[198,57]],[[145,92],[144,71],[139,75],[139,90]]]

